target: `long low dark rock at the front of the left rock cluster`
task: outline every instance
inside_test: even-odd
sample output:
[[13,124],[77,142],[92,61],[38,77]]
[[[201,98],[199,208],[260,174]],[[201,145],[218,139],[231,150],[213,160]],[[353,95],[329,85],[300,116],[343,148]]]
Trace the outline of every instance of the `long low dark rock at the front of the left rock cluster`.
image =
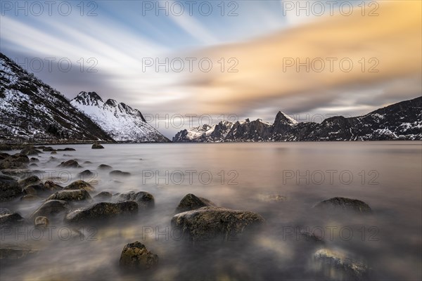
[[133,201],[118,203],[101,202],[86,208],[70,211],[65,221],[68,223],[84,223],[113,218],[119,215],[133,215],[138,213],[138,204]]

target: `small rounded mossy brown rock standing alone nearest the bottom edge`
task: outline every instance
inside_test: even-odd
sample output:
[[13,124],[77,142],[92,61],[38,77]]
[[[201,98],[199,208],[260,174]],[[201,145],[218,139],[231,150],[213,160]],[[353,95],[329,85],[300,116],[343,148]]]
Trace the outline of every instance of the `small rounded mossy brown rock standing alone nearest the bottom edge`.
[[149,269],[158,264],[158,256],[136,241],[124,246],[119,263],[122,268]]

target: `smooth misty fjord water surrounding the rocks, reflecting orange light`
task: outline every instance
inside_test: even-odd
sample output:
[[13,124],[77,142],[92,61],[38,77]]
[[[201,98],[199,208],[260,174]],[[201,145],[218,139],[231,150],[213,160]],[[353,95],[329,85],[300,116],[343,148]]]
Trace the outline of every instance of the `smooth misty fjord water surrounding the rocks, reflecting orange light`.
[[[97,171],[96,192],[151,192],[155,208],[137,216],[84,228],[68,239],[60,223],[44,234],[2,237],[39,249],[32,259],[2,266],[1,280],[326,280],[312,259],[324,248],[341,251],[370,268],[369,280],[421,280],[420,141],[319,143],[198,143],[56,145],[76,151],[39,155],[44,180],[66,185],[99,164],[128,171],[115,178]],[[65,156],[66,155],[66,156]],[[58,160],[47,162],[49,157]],[[57,168],[77,159],[83,168]],[[91,163],[84,162],[89,161]],[[183,176],[181,176],[183,174]],[[41,177],[40,176],[40,177]],[[57,178],[56,178],[57,177]],[[212,177],[212,178],[211,178]],[[218,206],[255,211],[266,223],[242,240],[190,243],[172,232],[170,220],[184,195],[193,193]],[[267,195],[286,200],[271,202]],[[318,213],[312,207],[331,197],[369,204],[372,214]],[[40,202],[4,205],[30,216]],[[307,241],[296,230],[324,236]],[[75,230],[73,230],[75,231]],[[37,236],[37,237],[35,237]],[[82,237],[82,238],[81,238]],[[120,270],[125,244],[139,241],[158,254],[159,266],[144,273]],[[337,276],[338,277],[338,276]]]

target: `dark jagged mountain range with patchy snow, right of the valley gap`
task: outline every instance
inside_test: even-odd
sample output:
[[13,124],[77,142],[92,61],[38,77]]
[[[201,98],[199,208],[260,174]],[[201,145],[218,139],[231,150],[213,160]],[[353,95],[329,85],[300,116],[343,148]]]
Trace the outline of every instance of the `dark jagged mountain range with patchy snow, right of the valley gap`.
[[405,100],[358,117],[331,117],[321,123],[297,122],[279,112],[274,123],[261,119],[219,122],[179,131],[173,141],[390,141],[422,140],[422,97]]

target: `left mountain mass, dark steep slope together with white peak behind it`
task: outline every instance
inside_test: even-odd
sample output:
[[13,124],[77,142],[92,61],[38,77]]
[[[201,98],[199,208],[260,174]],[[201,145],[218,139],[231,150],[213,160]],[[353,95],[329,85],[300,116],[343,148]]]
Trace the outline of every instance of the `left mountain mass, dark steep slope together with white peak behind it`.
[[170,142],[139,110],[96,93],[73,100],[0,53],[0,141]]

